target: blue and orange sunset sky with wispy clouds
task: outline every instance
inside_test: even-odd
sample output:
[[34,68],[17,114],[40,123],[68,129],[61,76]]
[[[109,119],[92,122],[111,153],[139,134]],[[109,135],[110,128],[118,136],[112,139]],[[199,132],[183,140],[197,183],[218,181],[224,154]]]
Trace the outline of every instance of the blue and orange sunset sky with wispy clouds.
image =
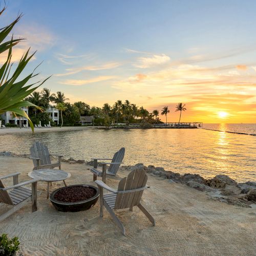
[[[3,7],[3,1],[1,2]],[[256,1],[6,1],[40,78],[71,102],[129,99],[168,121],[256,122]],[[3,57],[0,59],[3,63]],[[164,117],[162,117],[165,120]]]

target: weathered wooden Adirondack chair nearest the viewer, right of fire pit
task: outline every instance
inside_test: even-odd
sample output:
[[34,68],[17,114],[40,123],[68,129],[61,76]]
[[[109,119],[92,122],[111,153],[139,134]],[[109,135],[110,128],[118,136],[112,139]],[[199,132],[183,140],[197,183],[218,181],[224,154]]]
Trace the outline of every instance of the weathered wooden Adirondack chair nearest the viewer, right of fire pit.
[[[113,189],[106,185],[103,181],[96,180],[100,192],[100,217],[103,217],[103,206],[109,211],[110,215],[125,234],[125,229],[121,221],[115,215],[114,210],[130,208],[138,206],[143,214],[150,220],[153,226],[156,225],[151,214],[141,205],[140,200],[143,190],[148,188],[146,185],[147,176],[143,169],[133,170],[127,177],[124,177],[118,185],[118,189]],[[103,188],[111,193],[103,195]]]

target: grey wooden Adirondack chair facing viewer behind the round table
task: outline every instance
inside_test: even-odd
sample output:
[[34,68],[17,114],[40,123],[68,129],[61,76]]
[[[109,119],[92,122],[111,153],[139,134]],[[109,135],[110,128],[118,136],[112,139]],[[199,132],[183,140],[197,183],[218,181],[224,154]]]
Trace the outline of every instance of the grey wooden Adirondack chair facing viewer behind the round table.
[[[31,157],[30,159],[33,160],[34,168],[35,169],[51,169],[54,167],[59,167],[61,169],[61,155],[56,154],[50,154],[48,151],[48,147],[41,143],[41,142],[35,142],[30,147],[30,153]],[[50,156],[56,156],[58,157],[57,163],[52,163]]]

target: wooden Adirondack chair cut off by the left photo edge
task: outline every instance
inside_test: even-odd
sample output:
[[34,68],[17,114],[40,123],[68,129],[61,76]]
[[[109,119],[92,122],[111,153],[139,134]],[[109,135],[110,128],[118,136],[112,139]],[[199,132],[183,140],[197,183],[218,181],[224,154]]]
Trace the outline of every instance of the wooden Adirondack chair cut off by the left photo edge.
[[[32,212],[37,210],[37,181],[40,179],[33,179],[18,183],[18,175],[20,173],[14,173],[0,177],[0,202],[13,205],[13,207],[5,214],[0,216],[0,221],[3,221],[15,211],[22,208],[29,201],[32,201]],[[5,187],[2,182],[3,179],[13,177],[13,186]],[[24,185],[32,184],[32,189]],[[8,190],[9,193],[8,193]]]

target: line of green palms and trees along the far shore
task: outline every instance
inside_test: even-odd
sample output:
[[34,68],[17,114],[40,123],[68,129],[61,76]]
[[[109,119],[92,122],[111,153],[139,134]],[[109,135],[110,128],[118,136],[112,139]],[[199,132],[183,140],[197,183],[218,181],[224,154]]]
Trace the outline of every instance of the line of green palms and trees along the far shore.
[[[82,115],[92,116],[93,125],[109,126],[114,123],[140,123],[144,126],[147,123],[163,123],[159,118],[159,110],[149,112],[143,108],[143,106],[139,107],[129,100],[125,100],[124,102],[117,100],[113,105],[104,103],[103,106],[99,108],[98,106],[90,106],[82,101],[72,104],[69,102],[69,99],[65,97],[64,93],[51,93],[51,90],[48,88],[44,88],[40,92],[34,91],[27,100],[40,107],[40,109],[34,106],[29,107],[29,116],[36,124],[41,121],[42,125],[44,125],[51,121],[49,114],[44,112],[51,106],[59,110],[61,126],[63,124],[66,126],[78,125]],[[176,106],[176,111],[180,111],[179,122],[182,111],[186,110],[184,106],[185,104],[182,103],[178,103]],[[164,106],[161,110],[161,115],[165,116],[166,124],[167,114],[169,112],[168,106]],[[52,125],[54,125],[54,123],[52,123]]]

